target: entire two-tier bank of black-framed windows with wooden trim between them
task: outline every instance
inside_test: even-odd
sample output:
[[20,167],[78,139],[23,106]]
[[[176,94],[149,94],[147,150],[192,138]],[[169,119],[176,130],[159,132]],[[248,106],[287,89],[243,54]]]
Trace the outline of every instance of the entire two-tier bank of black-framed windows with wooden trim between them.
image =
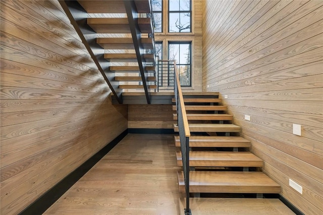
[[[194,2],[192,0],[151,0],[154,18],[154,38],[159,59],[176,60],[182,87],[192,87],[192,59],[194,48]],[[183,37],[182,37],[183,36]],[[194,64],[194,63],[193,63]],[[159,70],[159,67],[158,67]],[[174,70],[160,71],[158,76],[166,77],[159,87],[174,86]],[[172,78],[173,77],[173,78]]]

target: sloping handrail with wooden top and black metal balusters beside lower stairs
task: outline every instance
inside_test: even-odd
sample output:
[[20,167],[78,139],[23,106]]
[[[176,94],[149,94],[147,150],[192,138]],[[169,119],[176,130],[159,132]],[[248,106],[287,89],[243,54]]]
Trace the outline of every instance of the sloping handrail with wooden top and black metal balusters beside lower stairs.
[[[171,61],[170,61],[171,62]],[[177,125],[181,142],[182,162],[183,162],[183,174],[186,192],[186,207],[184,208],[185,215],[191,215],[190,209],[190,164],[189,164],[189,137],[191,136],[186,110],[184,105],[184,99],[177,71],[176,62],[174,62],[175,82],[174,93],[177,110]]]

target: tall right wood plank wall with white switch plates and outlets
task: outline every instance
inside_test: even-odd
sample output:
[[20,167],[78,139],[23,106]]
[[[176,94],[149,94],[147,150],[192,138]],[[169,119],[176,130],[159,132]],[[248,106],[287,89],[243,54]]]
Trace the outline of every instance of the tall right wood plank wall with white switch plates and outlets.
[[[203,1],[203,90],[228,95],[223,103],[264,160],[263,171],[311,215],[323,214],[322,6]],[[293,123],[301,124],[301,136]]]

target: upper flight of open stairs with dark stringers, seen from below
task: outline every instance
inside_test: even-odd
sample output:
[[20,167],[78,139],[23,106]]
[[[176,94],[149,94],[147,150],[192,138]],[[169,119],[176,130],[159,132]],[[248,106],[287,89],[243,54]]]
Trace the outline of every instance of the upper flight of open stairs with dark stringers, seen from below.
[[[124,89],[156,89],[149,0],[59,1],[119,103]],[[143,89],[139,90],[138,89]]]

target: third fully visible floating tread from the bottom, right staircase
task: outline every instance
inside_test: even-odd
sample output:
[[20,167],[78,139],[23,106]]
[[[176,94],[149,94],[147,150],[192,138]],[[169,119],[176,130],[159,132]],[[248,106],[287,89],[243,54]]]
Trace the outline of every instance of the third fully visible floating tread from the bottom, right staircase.
[[[180,147],[180,137],[175,136],[175,145]],[[250,147],[250,141],[240,136],[190,136],[190,147]]]

